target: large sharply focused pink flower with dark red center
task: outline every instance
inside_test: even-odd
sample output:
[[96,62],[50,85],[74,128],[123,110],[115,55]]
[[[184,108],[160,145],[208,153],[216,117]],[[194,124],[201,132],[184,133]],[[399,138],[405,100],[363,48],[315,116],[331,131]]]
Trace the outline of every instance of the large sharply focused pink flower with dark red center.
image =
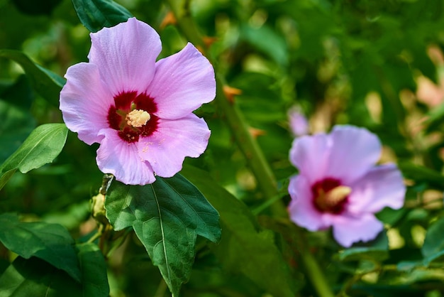
[[160,37],[135,18],[91,33],[91,43],[89,63],[67,70],[60,109],[79,139],[100,144],[101,171],[145,185],[205,151],[210,131],[192,112],[214,99],[216,82],[191,43],[156,62]]

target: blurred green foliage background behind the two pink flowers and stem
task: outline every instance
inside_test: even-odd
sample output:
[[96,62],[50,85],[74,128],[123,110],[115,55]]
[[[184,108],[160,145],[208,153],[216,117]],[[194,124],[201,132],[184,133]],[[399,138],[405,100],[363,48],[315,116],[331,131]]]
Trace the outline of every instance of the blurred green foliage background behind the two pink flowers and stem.
[[[168,22],[167,1],[117,2],[160,33],[161,57],[189,41],[183,28]],[[213,41],[207,54],[218,75],[241,90],[233,105],[279,192],[270,197],[262,188],[242,141],[230,129],[227,109],[217,102],[220,96],[199,109],[196,114],[212,131],[209,148],[200,158],[187,159],[182,173],[221,213],[223,239],[211,244],[198,238],[181,296],[316,295],[300,257],[301,230],[276,215],[269,203],[289,202],[288,178],[296,170],[288,161],[293,136],[287,111],[294,104],[309,118],[311,133],[334,124],[376,133],[384,144],[382,161],[396,161],[409,185],[403,209],[379,213],[387,232],[375,242],[344,250],[328,231],[304,235],[333,290],[351,296],[441,296],[443,1],[193,0],[187,5],[201,34],[214,38],[206,39]],[[36,126],[62,123],[62,117],[57,94],[24,75],[1,49],[19,50],[62,76],[70,65],[87,61],[90,40],[69,0],[0,0],[0,28],[3,163]],[[70,132],[53,163],[13,175],[0,191],[0,212],[60,224],[77,242],[86,242],[97,228],[90,216],[91,197],[102,181],[97,148]],[[3,244],[2,273],[15,258]],[[111,296],[169,294],[132,233],[106,265]],[[9,296],[1,295],[2,278],[0,296]]]

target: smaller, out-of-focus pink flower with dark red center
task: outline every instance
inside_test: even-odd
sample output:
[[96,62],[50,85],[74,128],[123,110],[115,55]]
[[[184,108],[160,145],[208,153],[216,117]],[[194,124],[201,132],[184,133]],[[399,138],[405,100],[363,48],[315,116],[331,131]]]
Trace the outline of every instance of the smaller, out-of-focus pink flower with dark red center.
[[406,193],[394,164],[375,166],[381,148],[376,135],[355,126],[295,139],[290,161],[299,175],[289,184],[291,220],[310,231],[333,227],[344,247],[374,239],[383,229],[374,213],[401,208]]

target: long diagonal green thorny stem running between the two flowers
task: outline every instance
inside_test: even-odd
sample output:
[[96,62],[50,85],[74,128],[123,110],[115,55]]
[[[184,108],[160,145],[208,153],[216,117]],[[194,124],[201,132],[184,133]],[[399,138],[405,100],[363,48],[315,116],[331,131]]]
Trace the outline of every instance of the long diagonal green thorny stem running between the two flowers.
[[[196,23],[194,23],[191,12],[189,11],[189,1],[167,0],[167,4],[169,4],[170,9],[174,13],[174,16],[177,19],[177,26],[179,26],[179,29],[182,31],[182,33],[184,33],[184,36],[186,36],[189,41],[194,43],[194,45],[196,45],[205,55],[206,44],[204,43],[204,38],[201,36],[199,28],[197,28]],[[223,77],[217,73],[216,60],[209,57],[208,54],[206,54],[206,58],[210,60],[216,72],[216,84],[218,86],[216,103],[223,111],[223,115],[226,117],[226,121],[228,122],[233,136],[235,137],[235,141],[247,159],[248,165],[257,179],[257,184],[260,186],[262,193],[265,195],[265,199],[272,200],[273,198],[279,196],[274,174],[265,160],[262,150],[250,134],[248,124],[246,123],[242,112],[240,112],[235,104],[230,102],[230,100],[228,100],[224,94],[223,86],[226,85],[226,82],[223,80]],[[282,200],[272,202],[270,205],[270,210],[272,211],[274,217],[287,217],[287,210],[282,204]],[[300,232],[299,235],[301,235],[300,242],[304,242],[304,234]],[[301,253],[301,259],[304,263],[311,283],[316,288],[318,296],[333,297],[334,294],[326,281],[323,271],[319,267],[316,259],[314,259],[313,254],[309,252],[308,247],[306,247],[305,244],[299,244],[297,248]]]

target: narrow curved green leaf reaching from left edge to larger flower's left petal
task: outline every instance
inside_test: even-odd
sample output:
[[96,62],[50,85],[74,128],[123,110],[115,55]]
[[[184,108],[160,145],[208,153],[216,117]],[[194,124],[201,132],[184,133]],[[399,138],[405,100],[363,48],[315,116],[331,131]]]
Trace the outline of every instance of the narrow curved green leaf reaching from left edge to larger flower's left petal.
[[18,50],[0,50],[0,57],[9,58],[20,64],[34,90],[52,104],[59,105],[59,94],[65,80],[48,69],[33,63],[30,58]]

